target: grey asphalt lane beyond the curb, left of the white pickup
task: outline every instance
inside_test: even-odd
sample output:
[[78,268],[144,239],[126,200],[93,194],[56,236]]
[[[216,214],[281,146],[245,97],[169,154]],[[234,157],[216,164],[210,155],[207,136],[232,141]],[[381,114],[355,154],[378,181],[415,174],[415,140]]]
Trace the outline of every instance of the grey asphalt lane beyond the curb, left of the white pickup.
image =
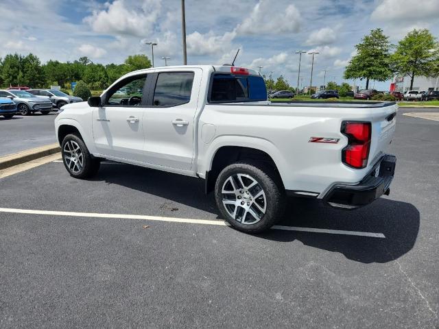
[[16,115],[12,119],[0,116],[0,157],[56,143],[55,117],[56,112]]

